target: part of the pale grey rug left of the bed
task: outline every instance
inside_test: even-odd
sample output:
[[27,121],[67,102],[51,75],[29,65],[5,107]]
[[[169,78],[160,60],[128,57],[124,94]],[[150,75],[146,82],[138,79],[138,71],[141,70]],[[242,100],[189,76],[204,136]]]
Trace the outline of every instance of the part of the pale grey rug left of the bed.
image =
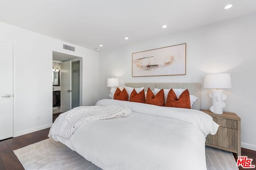
[[102,170],[52,138],[13,152],[25,170]]

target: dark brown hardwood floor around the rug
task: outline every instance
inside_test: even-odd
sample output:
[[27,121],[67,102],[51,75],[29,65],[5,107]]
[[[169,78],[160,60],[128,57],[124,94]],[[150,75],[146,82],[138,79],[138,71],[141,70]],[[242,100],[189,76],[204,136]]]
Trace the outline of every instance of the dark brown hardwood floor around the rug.
[[[54,122],[60,114],[61,113],[53,114],[52,122]],[[0,141],[0,170],[24,170],[13,150],[26,147],[44,139],[48,139],[49,130],[50,128],[47,128],[19,137],[13,137]],[[242,156],[248,156],[248,158],[253,159],[252,165],[256,165],[256,151],[242,148]],[[237,159],[236,154],[234,154],[234,157]],[[239,166],[239,170],[243,169],[248,168],[242,168]]]

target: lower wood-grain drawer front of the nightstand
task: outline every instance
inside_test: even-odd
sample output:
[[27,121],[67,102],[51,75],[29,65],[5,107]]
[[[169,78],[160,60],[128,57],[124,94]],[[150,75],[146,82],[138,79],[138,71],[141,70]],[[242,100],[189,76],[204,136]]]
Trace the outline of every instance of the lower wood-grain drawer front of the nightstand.
[[[221,140],[220,140],[221,139]],[[237,130],[226,127],[219,127],[216,135],[208,135],[206,143],[218,147],[237,150]]]

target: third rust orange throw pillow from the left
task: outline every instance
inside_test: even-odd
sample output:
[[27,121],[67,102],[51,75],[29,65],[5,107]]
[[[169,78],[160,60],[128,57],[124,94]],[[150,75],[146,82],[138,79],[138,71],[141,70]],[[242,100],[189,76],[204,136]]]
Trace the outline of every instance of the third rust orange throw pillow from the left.
[[148,88],[146,104],[153,104],[156,106],[164,106],[164,90],[161,89],[155,96],[154,93],[152,92],[152,90],[150,90],[150,88]]

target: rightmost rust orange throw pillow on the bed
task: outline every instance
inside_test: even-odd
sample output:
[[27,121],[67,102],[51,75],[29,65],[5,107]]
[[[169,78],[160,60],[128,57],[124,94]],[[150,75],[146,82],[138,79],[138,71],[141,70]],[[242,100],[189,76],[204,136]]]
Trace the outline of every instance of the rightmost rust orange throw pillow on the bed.
[[179,98],[177,98],[176,94],[171,89],[168,93],[165,106],[191,109],[188,89],[182,92]]

